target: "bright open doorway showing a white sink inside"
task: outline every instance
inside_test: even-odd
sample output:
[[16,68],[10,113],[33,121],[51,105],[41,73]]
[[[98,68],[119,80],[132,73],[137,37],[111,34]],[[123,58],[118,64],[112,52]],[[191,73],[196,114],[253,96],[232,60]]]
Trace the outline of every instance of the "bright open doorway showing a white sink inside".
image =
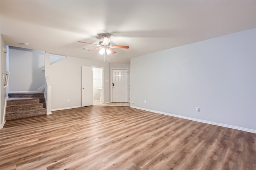
[[93,67],[93,105],[100,106],[104,103],[103,68]]

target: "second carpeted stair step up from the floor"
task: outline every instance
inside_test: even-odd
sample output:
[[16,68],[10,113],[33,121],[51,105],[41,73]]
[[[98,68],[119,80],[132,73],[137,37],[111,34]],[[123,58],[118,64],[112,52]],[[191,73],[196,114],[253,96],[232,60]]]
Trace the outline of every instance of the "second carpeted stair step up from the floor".
[[9,105],[6,107],[6,112],[12,111],[24,111],[45,108],[45,103],[32,103],[32,104],[21,104],[21,105]]

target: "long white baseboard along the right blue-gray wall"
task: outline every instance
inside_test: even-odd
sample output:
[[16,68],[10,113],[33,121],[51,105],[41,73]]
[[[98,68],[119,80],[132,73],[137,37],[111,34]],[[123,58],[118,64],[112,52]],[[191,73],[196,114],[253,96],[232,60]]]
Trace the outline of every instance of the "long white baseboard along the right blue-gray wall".
[[250,133],[256,133],[256,129],[248,129],[248,128],[244,128],[244,127],[238,127],[238,126],[233,126],[233,125],[227,125],[227,124],[217,123],[217,122],[213,122],[213,121],[206,121],[206,120],[202,120],[202,119],[195,119],[195,118],[192,118],[192,117],[186,117],[186,116],[181,116],[181,115],[175,115],[175,114],[172,114],[172,113],[165,113],[165,112],[162,112],[162,111],[156,111],[156,110],[151,110],[151,109],[145,109],[145,108],[142,108],[142,107],[136,107],[136,106],[130,106],[130,107],[135,108],[135,109],[141,109],[141,110],[151,111],[151,112],[154,112],[154,113],[160,113],[160,114],[163,114],[163,115],[168,115],[168,116],[173,116],[173,117],[179,117],[179,118],[182,118],[182,119],[188,119],[188,120],[192,120],[192,121],[198,121],[198,122],[201,122],[201,123],[208,123],[208,124],[211,124],[211,125],[217,125],[217,126],[222,126],[222,127],[228,127],[228,128],[232,128],[232,129],[237,129],[237,130],[240,130],[240,131],[246,131],[246,132],[250,132]]

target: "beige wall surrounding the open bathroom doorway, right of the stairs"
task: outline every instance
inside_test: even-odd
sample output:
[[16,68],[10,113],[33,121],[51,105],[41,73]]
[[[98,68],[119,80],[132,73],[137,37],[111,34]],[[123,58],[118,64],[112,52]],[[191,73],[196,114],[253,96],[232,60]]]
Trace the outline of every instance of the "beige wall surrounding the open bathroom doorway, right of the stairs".
[[[81,107],[82,66],[104,67],[104,80],[109,79],[109,63],[103,61],[67,57],[47,66],[52,85],[52,110]],[[104,102],[109,102],[108,82],[104,82],[104,88]]]

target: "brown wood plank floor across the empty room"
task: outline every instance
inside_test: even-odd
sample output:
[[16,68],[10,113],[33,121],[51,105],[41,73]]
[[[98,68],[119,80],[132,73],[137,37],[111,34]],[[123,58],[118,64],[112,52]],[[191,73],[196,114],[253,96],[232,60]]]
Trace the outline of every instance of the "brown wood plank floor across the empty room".
[[256,134],[130,107],[6,121],[1,170],[256,170]]

